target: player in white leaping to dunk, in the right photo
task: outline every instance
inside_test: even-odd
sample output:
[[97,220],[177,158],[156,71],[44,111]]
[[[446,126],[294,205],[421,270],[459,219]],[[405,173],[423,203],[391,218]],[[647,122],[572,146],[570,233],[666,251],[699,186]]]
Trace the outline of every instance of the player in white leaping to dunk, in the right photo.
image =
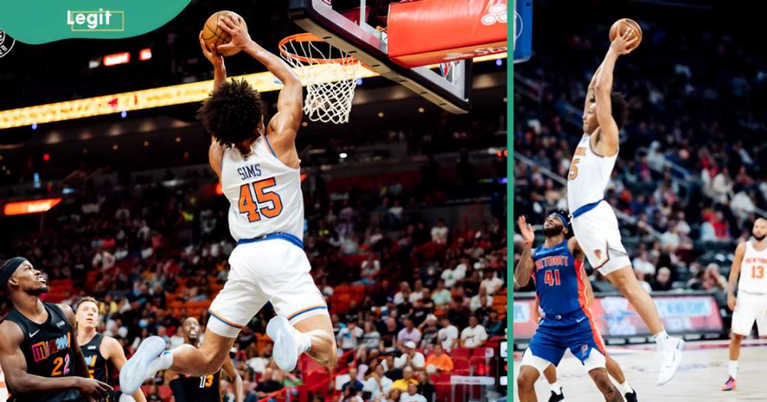
[[684,341],[669,337],[663,328],[653,299],[634,276],[631,260],[621,243],[615,212],[603,199],[618,155],[618,130],[628,111],[623,96],[611,92],[613,70],[618,57],[633,50],[636,41],[630,29],[618,35],[588,86],[584,135],[575,149],[568,175],[568,208],[573,233],[591,266],[621,291],[655,337],[658,351],[663,353],[657,384],[663,385],[671,381],[682,362]]

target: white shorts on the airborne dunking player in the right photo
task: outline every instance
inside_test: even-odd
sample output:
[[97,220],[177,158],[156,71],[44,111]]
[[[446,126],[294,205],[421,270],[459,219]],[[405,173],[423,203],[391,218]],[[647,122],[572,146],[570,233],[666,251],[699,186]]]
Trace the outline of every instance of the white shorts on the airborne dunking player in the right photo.
[[631,266],[631,260],[621,242],[617,217],[607,201],[600,202],[579,217],[573,217],[571,224],[588,262],[602,275]]

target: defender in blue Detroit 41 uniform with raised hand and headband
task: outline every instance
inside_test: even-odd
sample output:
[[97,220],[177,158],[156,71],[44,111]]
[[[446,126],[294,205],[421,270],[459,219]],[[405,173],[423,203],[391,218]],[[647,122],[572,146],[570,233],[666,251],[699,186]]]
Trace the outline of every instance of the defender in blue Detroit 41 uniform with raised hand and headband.
[[[568,349],[584,365],[604,400],[624,400],[607,377],[604,358],[607,352],[588,307],[588,278],[583,266],[575,266],[576,260],[583,259],[583,250],[575,237],[567,239],[567,219],[556,212],[546,217],[543,224],[546,240],[535,250],[532,250],[535,241],[532,226],[525,222],[525,217],[519,217],[518,225],[525,248],[514,277],[520,286],[527,285],[531,277],[534,279],[535,296],[545,313],[522,355],[517,377],[519,400],[538,400],[535,381],[549,366],[556,367]],[[558,395],[552,398],[561,400]]]

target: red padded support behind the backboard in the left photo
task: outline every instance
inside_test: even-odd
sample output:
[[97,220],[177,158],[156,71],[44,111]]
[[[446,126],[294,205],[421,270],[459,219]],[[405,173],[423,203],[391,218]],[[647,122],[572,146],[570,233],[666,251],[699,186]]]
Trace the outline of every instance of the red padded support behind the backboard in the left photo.
[[387,23],[389,57],[403,67],[506,51],[507,0],[393,2]]

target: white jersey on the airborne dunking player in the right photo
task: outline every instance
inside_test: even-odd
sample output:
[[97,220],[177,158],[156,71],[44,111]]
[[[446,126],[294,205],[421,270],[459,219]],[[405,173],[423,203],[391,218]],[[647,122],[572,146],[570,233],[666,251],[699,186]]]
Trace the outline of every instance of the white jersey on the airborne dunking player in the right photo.
[[575,149],[568,175],[568,209],[572,214],[585,204],[604,198],[617,153],[611,157],[597,155],[591,149],[591,136],[584,134]]

